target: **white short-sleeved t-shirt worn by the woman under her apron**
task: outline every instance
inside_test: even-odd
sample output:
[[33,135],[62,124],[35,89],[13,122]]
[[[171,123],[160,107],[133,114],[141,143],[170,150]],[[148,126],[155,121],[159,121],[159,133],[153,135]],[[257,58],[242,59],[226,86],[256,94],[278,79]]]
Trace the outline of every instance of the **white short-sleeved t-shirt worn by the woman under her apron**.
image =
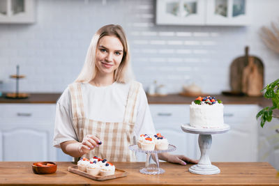
[[[122,122],[127,104],[130,83],[114,82],[110,86],[93,86],[82,83],[82,99],[86,118],[103,122]],[[140,134],[155,134],[149,105],[142,86],[137,96],[137,118],[134,127],[135,137]],[[60,148],[64,141],[76,140],[73,128],[73,113],[71,107],[70,90],[62,93],[56,104],[56,118],[53,145]]]

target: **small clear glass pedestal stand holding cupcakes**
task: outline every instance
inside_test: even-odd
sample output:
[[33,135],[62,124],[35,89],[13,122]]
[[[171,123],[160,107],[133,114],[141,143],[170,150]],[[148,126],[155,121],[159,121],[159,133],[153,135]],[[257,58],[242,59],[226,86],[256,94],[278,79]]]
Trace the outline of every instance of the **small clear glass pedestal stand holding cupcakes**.
[[[129,146],[129,149],[135,152],[146,153],[145,167],[143,169],[140,169],[140,173],[155,175],[155,174],[162,174],[165,172],[165,170],[161,169],[159,166],[158,153],[167,153],[167,152],[174,151],[176,150],[176,146],[169,145],[167,150],[142,150],[137,145],[133,145],[133,146]],[[156,164],[150,163],[151,155]]]

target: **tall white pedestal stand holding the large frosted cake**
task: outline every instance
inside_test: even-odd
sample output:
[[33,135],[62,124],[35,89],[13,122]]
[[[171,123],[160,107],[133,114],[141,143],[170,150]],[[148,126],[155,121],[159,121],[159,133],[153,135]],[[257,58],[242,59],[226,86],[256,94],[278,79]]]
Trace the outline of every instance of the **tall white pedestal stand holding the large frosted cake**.
[[211,164],[211,161],[209,160],[209,149],[211,148],[212,143],[211,134],[225,133],[229,128],[230,127],[227,124],[218,128],[197,128],[190,126],[190,124],[181,125],[181,129],[184,132],[199,134],[199,150],[201,151],[201,157],[198,164],[189,168],[191,173],[207,175],[220,173],[220,169]]

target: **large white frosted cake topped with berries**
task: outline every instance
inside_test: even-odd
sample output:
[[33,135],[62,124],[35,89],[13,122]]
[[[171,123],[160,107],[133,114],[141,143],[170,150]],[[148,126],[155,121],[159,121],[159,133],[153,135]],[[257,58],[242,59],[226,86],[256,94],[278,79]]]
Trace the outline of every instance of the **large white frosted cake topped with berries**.
[[190,104],[190,126],[218,128],[224,125],[224,106],[215,97],[198,97]]

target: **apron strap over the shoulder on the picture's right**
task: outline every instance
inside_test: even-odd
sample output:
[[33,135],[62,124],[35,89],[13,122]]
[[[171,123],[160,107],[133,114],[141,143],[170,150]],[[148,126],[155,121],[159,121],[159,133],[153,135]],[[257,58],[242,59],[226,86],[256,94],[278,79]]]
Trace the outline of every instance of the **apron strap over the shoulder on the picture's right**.
[[124,114],[123,123],[135,123],[137,116],[137,108],[135,107],[137,102],[137,95],[139,93],[141,84],[139,82],[131,82],[130,90],[128,93],[128,99]]

